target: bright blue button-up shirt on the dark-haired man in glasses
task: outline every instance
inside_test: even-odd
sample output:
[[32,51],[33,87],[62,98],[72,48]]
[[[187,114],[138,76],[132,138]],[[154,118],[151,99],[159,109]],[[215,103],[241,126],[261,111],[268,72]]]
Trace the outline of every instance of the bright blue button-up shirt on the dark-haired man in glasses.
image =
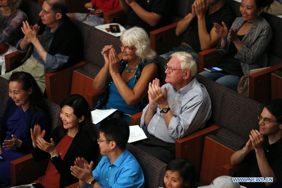
[[110,159],[103,156],[93,177],[103,187],[144,187],[144,175],[136,158],[127,150],[111,164]]

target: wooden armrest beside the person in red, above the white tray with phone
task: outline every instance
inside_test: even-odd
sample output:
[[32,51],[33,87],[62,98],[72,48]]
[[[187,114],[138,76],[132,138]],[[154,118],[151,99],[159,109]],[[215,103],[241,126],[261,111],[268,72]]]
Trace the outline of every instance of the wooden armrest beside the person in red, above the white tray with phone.
[[127,14],[125,14],[125,12],[121,8],[116,8],[104,13],[104,24],[125,24],[126,18]]

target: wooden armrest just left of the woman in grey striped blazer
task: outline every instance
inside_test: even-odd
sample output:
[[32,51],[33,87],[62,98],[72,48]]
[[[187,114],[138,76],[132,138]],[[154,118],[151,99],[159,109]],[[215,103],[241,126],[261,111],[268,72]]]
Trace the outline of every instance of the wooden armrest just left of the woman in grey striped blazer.
[[206,67],[215,67],[217,60],[220,58],[220,54],[216,51],[216,48],[210,48],[198,53],[198,71],[199,73],[204,71]]

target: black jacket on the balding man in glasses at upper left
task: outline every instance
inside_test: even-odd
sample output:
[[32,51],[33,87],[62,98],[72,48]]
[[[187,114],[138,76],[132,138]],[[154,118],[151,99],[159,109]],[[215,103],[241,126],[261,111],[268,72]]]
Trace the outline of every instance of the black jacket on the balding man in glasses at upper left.
[[[62,17],[63,23],[56,30],[54,38],[51,42],[49,50],[47,51],[51,55],[64,54],[69,56],[69,61],[66,66],[71,66],[82,60],[83,43],[82,37],[76,25],[64,15]],[[46,28],[46,25],[42,23],[40,19],[37,23],[40,26],[38,35],[41,35]]]

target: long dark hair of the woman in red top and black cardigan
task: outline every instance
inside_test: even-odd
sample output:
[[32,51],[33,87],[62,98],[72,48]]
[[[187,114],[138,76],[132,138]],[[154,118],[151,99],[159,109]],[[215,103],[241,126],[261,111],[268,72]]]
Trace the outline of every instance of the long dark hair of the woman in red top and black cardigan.
[[[84,97],[78,94],[68,96],[60,105],[62,108],[64,105],[72,107],[73,114],[80,118],[84,115],[84,121],[79,123],[78,131],[87,134],[93,142],[96,142],[96,131],[92,124],[92,117],[88,102]],[[60,136],[63,137],[67,133],[67,129],[64,128],[63,122],[60,121]]]

